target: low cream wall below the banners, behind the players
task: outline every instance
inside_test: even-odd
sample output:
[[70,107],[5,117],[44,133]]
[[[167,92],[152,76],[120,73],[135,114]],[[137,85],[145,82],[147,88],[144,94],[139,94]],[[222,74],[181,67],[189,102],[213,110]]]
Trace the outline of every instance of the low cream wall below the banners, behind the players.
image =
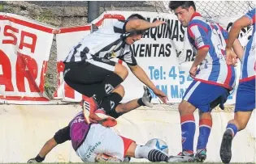
[[[0,105],[0,162],[27,162],[37,155],[41,146],[65,127],[80,111],[78,105]],[[195,114],[198,121],[197,114]],[[233,113],[213,112],[213,128],[208,145],[208,162],[220,162],[219,146],[225,126]],[[180,151],[180,118],[176,110],[163,105],[140,108],[122,116],[115,131],[130,137],[138,144],[158,137],[167,141],[169,153]],[[195,140],[197,141],[198,130]],[[195,143],[196,145],[196,143]],[[232,162],[255,161],[255,114],[248,127],[234,138]],[[139,160],[140,161],[140,160]],[[58,145],[45,162],[81,162],[70,141]]]

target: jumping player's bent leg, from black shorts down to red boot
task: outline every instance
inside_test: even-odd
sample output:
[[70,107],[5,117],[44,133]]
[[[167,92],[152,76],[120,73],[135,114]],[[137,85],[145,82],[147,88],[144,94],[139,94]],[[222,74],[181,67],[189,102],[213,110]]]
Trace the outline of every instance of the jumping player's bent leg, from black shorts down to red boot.
[[[98,109],[98,103],[115,90],[127,75],[128,69],[124,65],[107,59],[91,59],[78,64],[66,63],[64,80],[82,95],[90,95],[85,102],[88,103],[87,107],[94,111]],[[84,87],[74,87],[70,84],[80,84]],[[93,97],[88,92],[92,92]]]

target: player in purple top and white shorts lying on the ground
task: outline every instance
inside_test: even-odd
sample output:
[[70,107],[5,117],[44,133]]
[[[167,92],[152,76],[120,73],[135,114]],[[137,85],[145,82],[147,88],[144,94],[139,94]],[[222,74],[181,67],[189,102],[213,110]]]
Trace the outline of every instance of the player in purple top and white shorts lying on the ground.
[[[71,139],[72,147],[83,162],[123,162],[124,158],[146,158],[150,162],[168,162],[169,156],[159,149],[146,145],[137,145],[131,139],[117,135],[111,128],[102,124],[88,124],[83,111],[80,111],[70,122],[67,140]],[[52,142],[52,143],[50,143]],[[46,144],[57,145],[54,139]],[[46,149],[50,151],[50,149]],[[46,153],[46,151],[44,153]],[[40,158],[39,158],[40,159]],[[30,159],[28,162],[41,162]]]

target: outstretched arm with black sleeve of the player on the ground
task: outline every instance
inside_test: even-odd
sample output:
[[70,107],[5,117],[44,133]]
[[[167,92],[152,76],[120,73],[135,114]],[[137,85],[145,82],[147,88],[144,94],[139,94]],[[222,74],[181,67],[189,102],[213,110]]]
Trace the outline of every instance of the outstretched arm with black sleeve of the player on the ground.
[[54,137],[50,138],[49,141],[46,141],[46,144],[41,148],[40,152],[37,154],[37,157],[29,159],[28,163],[43,162],[46,158],[46,155],[50,153],[51,149],[54,149],[56,145],[70,140],[69,131],[70,127],[67,126],[56,132]]

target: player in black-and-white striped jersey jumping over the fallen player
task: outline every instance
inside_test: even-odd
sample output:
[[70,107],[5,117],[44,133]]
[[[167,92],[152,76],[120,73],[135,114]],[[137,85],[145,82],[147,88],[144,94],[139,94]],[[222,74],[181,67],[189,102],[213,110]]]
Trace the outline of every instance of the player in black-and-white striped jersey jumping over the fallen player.
[[[124,97],[124,86],[120,83],[127,78],[128,69],[111,61],[111,58],[126,62],[141,82],[150,87],[163,103],[167,102],[163,91],[158,90],[145,71],[137,65],[131,49],[131,44],[141,40],[145,30],[163,23],[160,20],[150,23],[143,16],[134,14],[126,21],[119,20],[112,26],[102,27],[85,36],[72,48],[64,61],[64,80],[68,86],[88,97],[84,99],[83,106],[90,111],[90,118],[96,122],[106,120],[105,124],[108,124],[110,118],[99,115],[113,112],[111,109],[115,109]],[[137,103],[145,105],[141,99]],[[108,126],[114,124],[110,121]]]

